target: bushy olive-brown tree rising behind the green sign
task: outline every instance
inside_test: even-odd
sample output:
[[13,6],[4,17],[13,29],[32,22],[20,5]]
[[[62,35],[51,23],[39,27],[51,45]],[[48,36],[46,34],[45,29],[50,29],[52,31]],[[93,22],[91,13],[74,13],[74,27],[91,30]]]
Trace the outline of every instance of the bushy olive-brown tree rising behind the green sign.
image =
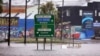
[[42,4],[39,8],[40,14],[52,14],[55,17],[55,23],[60,21],[58,17],[58,10],[54,7],[54,4],[49,1],[46,4]]

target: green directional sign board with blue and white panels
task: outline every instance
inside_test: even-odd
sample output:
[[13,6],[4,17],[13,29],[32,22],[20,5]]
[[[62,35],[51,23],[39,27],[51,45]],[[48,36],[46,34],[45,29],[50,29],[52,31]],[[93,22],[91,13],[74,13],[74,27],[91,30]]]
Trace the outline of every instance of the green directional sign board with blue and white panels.
[[36,38],[54,37],[54,16],[53,15],[35,15]]

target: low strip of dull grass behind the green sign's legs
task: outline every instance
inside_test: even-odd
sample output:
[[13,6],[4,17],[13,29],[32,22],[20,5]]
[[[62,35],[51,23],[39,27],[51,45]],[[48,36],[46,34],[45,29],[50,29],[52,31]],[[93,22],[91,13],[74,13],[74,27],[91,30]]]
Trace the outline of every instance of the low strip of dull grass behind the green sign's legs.
[[[15,42],[15,43],[24,43],[24,38],[10,38],[10,41],[11,42]],[[26,38],[26,42],[27,43],[36,43],[36,38]],[[44,39],[43,38],[39,38],[38,39],[38,42],[39,43],[43,43],[44,42]],[[51,42],[51,39],[50,38],[47,38],[46,39],[46,43],[50,43]],[[53,43],[62,43],[62,40],[60,39],[57,39],[57,38],[52,38],[52,42]]]

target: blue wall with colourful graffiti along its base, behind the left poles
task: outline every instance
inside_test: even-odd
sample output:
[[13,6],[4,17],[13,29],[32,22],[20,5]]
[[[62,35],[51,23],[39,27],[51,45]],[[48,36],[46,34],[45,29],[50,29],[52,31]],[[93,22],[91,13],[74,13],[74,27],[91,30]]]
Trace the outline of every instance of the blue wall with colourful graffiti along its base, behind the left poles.
[[[2,20],[2,23],[0,23],[0,36],[6,37],[8,34],[8,26],[4,23],[6,20]],[[16,20],[15,20],[16,21]],[[12,21],[12,22],[15,22]],[[18,19],[16,25],[15,23],[11,25],[11,37],[23,37],[25,34],[25,19]],[[34,36],[34,20],[33,19],[27,19],[27,31],[26,31],[27,37],[33,37]]]

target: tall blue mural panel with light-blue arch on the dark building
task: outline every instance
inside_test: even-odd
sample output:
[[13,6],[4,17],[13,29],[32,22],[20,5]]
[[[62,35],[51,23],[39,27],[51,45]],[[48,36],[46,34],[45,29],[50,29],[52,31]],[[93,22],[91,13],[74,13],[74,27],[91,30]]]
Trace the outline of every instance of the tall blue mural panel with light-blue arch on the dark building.
[[93,12],[86,11],[83,12],[82,32],[80,34],[80,39],[91,39],[93,37],[94,37]]

